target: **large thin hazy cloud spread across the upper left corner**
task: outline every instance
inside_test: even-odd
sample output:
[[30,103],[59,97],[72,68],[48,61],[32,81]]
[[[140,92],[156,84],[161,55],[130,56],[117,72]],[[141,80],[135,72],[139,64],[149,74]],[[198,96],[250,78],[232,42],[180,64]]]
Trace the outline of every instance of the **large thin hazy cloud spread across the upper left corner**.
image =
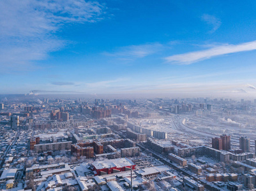
[[0,71],[22,69],[67,41],[57,38],[66,23],[96,22],[105,6],[84,0],[0,1]]

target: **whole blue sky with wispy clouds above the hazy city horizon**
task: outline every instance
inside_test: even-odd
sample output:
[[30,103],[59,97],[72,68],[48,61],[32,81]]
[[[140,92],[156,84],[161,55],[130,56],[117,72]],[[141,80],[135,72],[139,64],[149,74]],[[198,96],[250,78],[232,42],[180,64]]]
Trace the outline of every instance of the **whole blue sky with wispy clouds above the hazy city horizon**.
[[0,2],[0,94],[255,95],[256,1]]

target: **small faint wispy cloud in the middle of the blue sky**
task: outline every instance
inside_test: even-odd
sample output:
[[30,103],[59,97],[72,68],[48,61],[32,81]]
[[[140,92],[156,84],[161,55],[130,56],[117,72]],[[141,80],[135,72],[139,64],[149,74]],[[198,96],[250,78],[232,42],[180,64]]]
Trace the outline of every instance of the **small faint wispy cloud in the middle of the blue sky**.
[[119,48],[114,52],[103,52],[104,55],[113,57],[114,59],[129,62],[135,59],[140,59],[153,53],[159,52],[164,46],[160,43],[149,43],[146,45],[131,45]]

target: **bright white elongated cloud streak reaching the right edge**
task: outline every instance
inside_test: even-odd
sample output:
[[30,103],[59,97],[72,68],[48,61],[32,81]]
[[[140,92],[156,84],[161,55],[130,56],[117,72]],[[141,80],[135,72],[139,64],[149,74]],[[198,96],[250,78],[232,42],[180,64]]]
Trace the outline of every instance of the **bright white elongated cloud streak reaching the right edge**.
[[211,57],[227,55],[229,53],[245,52],[250,50],[256,50],[256,41],[242,43],[239,45],[215,46],[207,50],[200,50],[197,52],[188,52],[188,53],[172,55],[170,57],[165,57],[165,60],[167,62],[172,62],[177,64],[192,64],[193,62],[210,59]]

